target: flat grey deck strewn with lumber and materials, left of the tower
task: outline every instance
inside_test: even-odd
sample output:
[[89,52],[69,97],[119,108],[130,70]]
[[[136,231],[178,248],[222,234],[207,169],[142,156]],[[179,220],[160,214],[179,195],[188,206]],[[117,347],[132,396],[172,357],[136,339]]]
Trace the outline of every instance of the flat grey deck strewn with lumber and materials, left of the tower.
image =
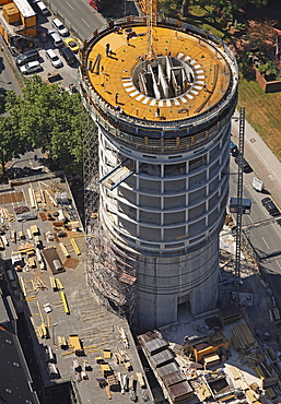
[[[137,395],[150,402],[127,321],[98,306],[86,285],[84,231],[65,175],[45,171],[1,186],[0,219],[1,296],[11,299],[1,304],[1,332],[19,338],[39,402],[129,403]],[[9,364],[11,357],[8,375]],[[1,380],[3,399],[20,403],[20,382],[4,373]]]

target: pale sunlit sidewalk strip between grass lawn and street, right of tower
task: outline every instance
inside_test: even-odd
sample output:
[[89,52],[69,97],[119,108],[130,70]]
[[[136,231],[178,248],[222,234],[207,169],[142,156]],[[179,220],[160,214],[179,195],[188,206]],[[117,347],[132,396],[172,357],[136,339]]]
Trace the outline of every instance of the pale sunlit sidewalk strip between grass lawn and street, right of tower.
[[[238,116],[237,110],[235,116]],[[237,145],[238,130],[239,122],[233,120],[232,134]],[[271,198],[281,207],[281,163],[247,121],[245,121],[244,155],[256,177],[264,182]]]

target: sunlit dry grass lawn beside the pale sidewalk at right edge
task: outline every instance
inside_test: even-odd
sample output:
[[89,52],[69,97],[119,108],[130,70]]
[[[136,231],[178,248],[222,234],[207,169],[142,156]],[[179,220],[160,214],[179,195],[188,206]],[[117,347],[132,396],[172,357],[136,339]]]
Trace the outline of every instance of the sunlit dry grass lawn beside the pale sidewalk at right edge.
[[281,161],[281,93],[266,94],[258,83],[239,80],[238,107],[246,119]]

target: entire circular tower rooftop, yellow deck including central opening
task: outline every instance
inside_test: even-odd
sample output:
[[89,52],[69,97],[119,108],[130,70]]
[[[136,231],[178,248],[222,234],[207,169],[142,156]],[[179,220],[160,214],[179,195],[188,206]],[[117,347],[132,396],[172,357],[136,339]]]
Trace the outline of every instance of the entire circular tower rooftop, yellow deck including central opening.
[[87,76],[99,97],[131,118],[154,122],[190,118],[215,106],[232,86],[223,47],[188,29],[153,31],[156,57],[151,61],[145,25],[131,24],[94,41]]

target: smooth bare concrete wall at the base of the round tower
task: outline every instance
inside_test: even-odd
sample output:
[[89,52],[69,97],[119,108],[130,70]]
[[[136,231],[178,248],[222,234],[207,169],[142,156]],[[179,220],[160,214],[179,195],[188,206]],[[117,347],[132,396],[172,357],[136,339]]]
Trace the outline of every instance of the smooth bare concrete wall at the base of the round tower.
[[218,237],[182,257],[142,256],[137,269],[140,331],[178,321],[178,304],[192,316],[212,310],[218,300]]

